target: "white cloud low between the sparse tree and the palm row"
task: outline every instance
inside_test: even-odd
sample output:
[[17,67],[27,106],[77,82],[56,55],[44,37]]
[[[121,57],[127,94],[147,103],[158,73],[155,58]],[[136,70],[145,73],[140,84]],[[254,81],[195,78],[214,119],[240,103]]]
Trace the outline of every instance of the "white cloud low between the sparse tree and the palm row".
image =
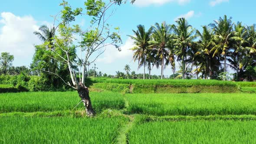
[[131,48],[133,47],[134,44],[131,38],[128,38],[125,45],[121,46],[121,52],[119,52],[115,46],[108,46],[103,56],[99,58],[97,62],[112,63],[115,62],[115,60],[131,59],[133,54]]

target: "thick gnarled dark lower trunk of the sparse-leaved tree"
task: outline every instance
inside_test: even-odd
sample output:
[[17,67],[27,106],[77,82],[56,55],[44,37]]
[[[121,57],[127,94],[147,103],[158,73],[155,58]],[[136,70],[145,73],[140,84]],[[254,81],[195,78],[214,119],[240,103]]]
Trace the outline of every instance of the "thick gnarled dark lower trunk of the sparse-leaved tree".
[[93,116],[95,115],[95,111],[92,108],[91,99],[89,96],[89,89],[85,86],[83,86],[82,83],[79,83],[80,88],[77,90],[79,97],[82,99],[83,104],[85,106],[86,115],[87,116]]

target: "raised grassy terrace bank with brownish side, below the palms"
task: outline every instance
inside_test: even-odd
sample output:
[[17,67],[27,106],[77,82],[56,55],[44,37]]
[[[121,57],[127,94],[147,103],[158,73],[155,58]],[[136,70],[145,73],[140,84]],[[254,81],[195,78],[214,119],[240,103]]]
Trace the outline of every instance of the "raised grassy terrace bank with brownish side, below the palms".
[[236,93],[235,82],[217,80],[95,79],[93,87],[122,93]]

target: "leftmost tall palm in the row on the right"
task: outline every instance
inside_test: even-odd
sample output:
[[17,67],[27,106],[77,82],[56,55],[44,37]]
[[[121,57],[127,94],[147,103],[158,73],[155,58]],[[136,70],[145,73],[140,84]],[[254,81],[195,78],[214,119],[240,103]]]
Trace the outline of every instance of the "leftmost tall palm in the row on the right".
[[132,30],[135,36],[129,36],[134,40],[135,47],[131,50],[134,51],[133,59],[138,60],[138,68],[144,66],[143,79],[145,79],[145,67],[146,67],[146,53],[148,53],[148,48],[150,47],[149,42],[151,41],[152,28],[148,29],[146,32],[145,27],[142,25],[137,26],[138,30]]

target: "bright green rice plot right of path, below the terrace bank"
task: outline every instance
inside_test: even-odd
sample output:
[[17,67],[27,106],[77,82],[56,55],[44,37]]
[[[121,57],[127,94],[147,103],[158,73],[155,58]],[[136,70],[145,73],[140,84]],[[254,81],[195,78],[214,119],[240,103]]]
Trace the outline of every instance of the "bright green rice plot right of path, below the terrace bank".
[[126,95],[129,113],[148,115],[255,115],[256,94]]

